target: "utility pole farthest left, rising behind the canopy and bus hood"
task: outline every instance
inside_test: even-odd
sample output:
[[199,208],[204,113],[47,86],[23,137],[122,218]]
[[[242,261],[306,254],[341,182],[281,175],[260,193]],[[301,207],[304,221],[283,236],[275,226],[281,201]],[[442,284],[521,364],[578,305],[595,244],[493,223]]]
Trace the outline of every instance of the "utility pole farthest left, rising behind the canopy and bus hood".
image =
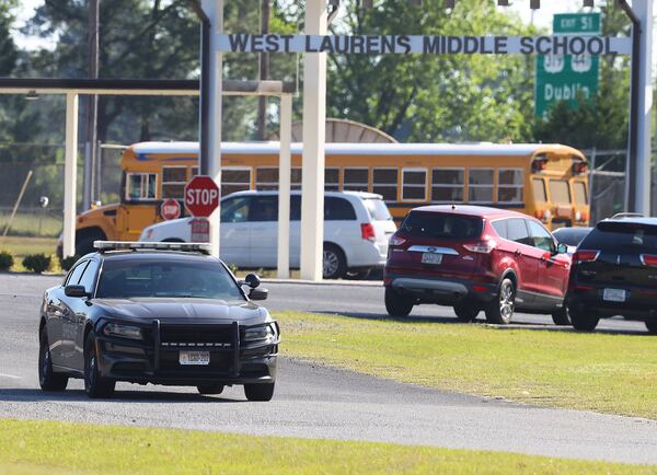
[[[89,0],[88,16],[88,78],[99,78],[99,2],[100,0]],[[83,208],[91,208],[92,200],[100,194],[96,187],[96,177],[100,175],[97,160],[97,116],[99,100],[97,95],[87,96],[85,127],[84,127],[84,199]]]

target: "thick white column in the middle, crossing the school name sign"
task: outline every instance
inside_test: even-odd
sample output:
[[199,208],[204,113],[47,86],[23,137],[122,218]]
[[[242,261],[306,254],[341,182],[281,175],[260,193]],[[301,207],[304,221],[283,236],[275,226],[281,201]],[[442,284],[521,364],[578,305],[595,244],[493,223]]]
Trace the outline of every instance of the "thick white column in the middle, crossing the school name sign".
[[[326,1],[307,0],[306,34],[326,34]],[[326,54],[303,57],[303,163],[301,175],[301,278],[322,279]]]

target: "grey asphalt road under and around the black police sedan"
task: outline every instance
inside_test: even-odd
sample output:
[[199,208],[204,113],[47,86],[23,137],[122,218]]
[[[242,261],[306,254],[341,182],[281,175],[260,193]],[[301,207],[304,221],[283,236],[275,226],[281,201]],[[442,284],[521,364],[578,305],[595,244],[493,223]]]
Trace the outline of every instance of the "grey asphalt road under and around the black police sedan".
[[[254,435],[387,441],[657,464],[657,421],[537,408],[446,393],[283,359],[270,403],[247,403],[241,387],[220,396],[193,389],[118,384],[116,397],[90,401],[73,381],[53,395],[38,390],[37,309],[59,278],[0,275],[0,417],[127,426],[180,427]],[[272,283],[268,306],[384,317],[381,289]],[[378,300],[377,300],[378,299]],[[420,309],[450,321],[451,312]],[[538,320],[535,320],[538,318]],[[552,327],[521,316],[527,327]],[[609,331],[642,327],[611,322]],[[618,328],[616,328],[618,326]],[[642,329],[643,332],[643,329]]]

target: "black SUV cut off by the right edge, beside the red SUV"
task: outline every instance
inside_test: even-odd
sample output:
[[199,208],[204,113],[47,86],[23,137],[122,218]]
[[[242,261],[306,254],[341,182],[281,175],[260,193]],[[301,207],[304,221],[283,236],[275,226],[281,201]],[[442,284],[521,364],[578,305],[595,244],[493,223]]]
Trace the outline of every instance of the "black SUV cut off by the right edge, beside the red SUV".
[[573,255],[568,311],[577,329],[622,315],[657,334],[657,218],[608,219],[587,234]]

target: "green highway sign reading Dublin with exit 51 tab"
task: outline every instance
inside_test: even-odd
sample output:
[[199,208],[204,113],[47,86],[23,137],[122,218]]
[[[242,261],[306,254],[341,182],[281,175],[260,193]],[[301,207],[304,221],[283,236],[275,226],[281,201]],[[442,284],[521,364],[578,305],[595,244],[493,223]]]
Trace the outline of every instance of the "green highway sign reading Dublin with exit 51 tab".
[[[554,15],[555,35],[587,36],[600,34],[600,13],[563,13]],[[537,56],[534,111],[543,117],[558,101],[577,107],[578,94],[591,97],[598,91],[600,57],[597,55]]]

